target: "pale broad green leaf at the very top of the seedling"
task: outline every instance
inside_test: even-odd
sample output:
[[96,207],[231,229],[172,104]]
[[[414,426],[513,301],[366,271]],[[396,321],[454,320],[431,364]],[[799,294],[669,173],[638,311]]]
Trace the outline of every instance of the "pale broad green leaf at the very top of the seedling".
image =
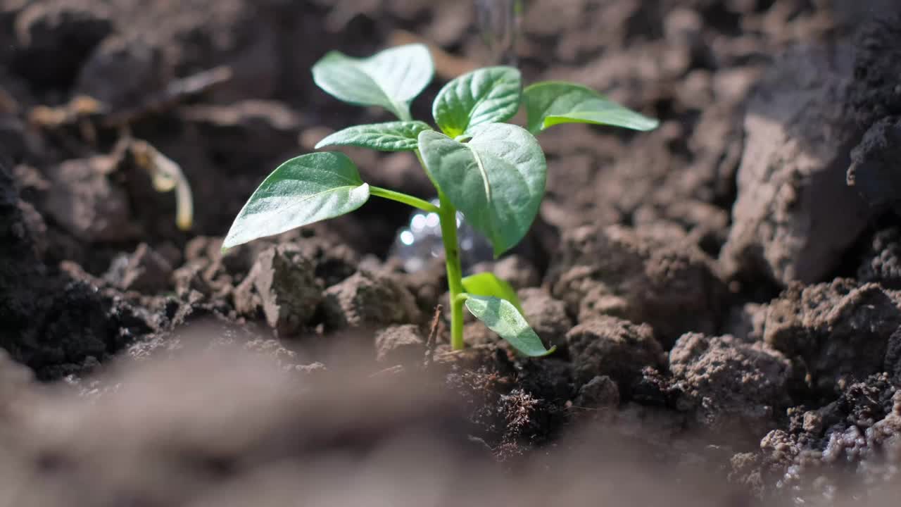
[[432,55],[423,44],[390,48],[365,58],[331,51],[313,66],[313,80],[332,97],[358,106],[382,106],[410,118],[410,101],[432,82]]

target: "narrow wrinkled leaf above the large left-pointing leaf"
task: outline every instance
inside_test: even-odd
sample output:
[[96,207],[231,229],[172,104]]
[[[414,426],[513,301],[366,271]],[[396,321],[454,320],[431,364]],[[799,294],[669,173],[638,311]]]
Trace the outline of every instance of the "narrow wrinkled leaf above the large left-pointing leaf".
[[380,152],[412,152],[419,145],[419,133],[430,129],[424,122],[357,125],[329,135],[316,144],[316,149],[324,146],[359,146]]

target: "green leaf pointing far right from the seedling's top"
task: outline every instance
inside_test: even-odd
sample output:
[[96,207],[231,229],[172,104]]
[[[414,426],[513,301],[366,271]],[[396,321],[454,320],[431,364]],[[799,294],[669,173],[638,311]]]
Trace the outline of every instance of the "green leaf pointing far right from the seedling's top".
[[535,83],[525,88],[523,97],[532,134],[556,124],[612,125],[641,131],[653,130],[660,124],[575,83]]

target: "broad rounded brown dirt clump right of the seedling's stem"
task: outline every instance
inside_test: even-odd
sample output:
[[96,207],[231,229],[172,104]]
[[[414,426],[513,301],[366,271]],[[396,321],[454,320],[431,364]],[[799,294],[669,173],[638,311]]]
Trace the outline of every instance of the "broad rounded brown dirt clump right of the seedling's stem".
[[684,236],[622,226],[564,235],[547,281],[578,322],[603,315],[645,322],[664,346],[687,331],[713,332],[725,294],[713,261]]

